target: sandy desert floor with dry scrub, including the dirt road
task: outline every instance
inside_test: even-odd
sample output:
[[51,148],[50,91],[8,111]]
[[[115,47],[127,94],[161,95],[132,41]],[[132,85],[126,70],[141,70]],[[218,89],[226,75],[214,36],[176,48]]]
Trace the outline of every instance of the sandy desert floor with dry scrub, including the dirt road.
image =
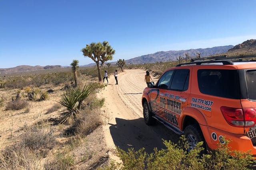
[[[253,48],[254,42],[249,42]],[[248,51],[248,41],[244,44],[235,46],[236,53],[240,47]],[[166,148],[163,141],[177,144],[180,136],[161,123],[154,127],[144,123],[141,104],[146,70],[156,82],[165,69],[176,64],[178,61],[126,65],[124,72],[118,69],[118,85],[112,75],[115,66],[104,67],[109,70],[108,84],[98,82],[95,66],[80,68],[80,86],[94,83],[94,92],[84,100],[75,121],[64,123],[62,118],[70,112],[59,102],[74,87],[71,68],[26,74],[14,71],[2,76],[1,169],[108,169],[112,161],[123,161],[117,149],[128,153],[143,148],[153,153],[155,148]]]

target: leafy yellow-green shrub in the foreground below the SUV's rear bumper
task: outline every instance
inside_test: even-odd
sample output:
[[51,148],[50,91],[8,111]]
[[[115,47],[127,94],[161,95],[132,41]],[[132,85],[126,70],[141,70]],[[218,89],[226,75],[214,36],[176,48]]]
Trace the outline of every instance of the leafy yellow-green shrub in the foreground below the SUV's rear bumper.
[[[196,148],[187,152],[188,143],[182,135],[180,142],[174,144],[164,141],[166,149],[157,150],[148,154],[144,149],[135,151],[128,149],[128,152],[118,148],[118,156],[122,159],[122,166],[115,164],[121,170],[248,170],[252,164],[250,151],[233,151],[228,147],[229,141],[220,144],[218,149],[208,154],[200,154],[203,150],[202,142]],[[108,169],[107,167],[106,169]]]

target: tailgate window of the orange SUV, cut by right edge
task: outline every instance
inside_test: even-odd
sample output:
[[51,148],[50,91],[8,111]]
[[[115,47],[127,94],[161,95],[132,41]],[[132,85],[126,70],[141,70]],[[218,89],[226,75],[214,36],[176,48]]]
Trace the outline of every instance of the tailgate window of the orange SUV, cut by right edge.
[[247,98],[250,100],[256,100],[256,70],[248,70],[246,75],[246,89]]

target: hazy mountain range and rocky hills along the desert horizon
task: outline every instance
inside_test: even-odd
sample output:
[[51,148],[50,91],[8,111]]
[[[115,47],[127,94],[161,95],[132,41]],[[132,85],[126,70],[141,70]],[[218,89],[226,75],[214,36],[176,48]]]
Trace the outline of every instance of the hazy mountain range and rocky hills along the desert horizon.
[[[179,56],[185,57],[188,54],[190,58],[195,58],[197,54],[200,57],[216,56],[216,55],[252,55],[256,54],[256,39],[250,39],[244,41],[238,45],[226,45],[219,47],[212,47],[206,49],[188,49],[179,51],[158,51],[153,54],[142,55],[140,57],[135,57],[133,59],[126,60],[126,64],[144,64],[144,63],[156,63],[156,62],[166,62],[166,61],[177,61]],[[116,62],[109,62],[111,64],[116,64]],[[83,66],[94,66],[95,63],[83,65]],[[80,66],[82,67],[82,66]],[[64,68],[64,66],[54,65],[54,66],[28,66],[20,65],[14,68],[0,68],[0,76],[10,74],[10,73],[20,73],[20,72],[30,72],[37,70],[46,70],[54,68]]]

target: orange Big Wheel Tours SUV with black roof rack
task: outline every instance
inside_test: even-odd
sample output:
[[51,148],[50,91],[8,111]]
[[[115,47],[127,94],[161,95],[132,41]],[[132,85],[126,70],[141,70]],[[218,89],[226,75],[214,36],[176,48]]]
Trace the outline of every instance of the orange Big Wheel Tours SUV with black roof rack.
[[[167,69],[142,94],[144,121],[184,134],[190,149],[230,140],[233,150],[256,156],[256,55],[192,59]],[[246,60],[247,59],[247,60]]]

